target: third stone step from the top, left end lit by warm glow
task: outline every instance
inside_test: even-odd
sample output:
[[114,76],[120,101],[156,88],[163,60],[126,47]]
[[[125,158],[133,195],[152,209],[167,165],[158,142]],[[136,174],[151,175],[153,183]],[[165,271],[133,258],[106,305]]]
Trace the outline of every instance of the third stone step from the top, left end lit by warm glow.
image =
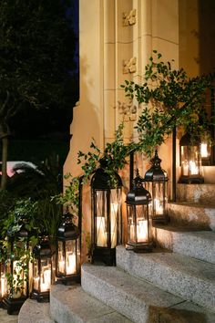
[[153,235],[158,246],[215,264],[215,232],[157,225]]

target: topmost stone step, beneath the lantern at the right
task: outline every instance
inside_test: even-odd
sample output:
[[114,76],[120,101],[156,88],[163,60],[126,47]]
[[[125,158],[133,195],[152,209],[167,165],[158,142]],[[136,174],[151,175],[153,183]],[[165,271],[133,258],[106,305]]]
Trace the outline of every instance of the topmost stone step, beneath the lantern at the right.
[[215,203],[215,184],[183,184],[177,183],[176,196],[179,202]]

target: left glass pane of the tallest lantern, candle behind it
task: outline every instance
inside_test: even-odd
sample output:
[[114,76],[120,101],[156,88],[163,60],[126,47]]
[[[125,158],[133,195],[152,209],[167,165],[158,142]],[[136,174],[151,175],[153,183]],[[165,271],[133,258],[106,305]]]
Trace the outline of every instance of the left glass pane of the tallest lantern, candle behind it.
[[96,243],[107,246],[107,191],[97,191],[96,199]]

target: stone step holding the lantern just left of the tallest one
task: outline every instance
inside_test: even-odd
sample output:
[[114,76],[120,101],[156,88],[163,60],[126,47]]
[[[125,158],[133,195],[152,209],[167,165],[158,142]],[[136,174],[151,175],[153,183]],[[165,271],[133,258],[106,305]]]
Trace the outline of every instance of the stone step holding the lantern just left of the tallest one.
[[132,322],[95,297],[90,297],[80,286],[52,286],[50,314],[56,323]]

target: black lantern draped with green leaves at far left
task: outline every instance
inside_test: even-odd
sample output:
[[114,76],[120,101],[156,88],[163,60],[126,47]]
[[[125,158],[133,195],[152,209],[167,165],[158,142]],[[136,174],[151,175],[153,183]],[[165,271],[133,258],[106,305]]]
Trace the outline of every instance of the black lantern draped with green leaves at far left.
[[[29,296],[29,263],[26,253],[29,249],[29,233],[25,224],[21,225],[18,232],[7,232],[10,247],[10,261],[6,266],[7,290],[3,298],[3,305],[8,314],[17,312]],[[20,254],[21,253],[21,254]]]

